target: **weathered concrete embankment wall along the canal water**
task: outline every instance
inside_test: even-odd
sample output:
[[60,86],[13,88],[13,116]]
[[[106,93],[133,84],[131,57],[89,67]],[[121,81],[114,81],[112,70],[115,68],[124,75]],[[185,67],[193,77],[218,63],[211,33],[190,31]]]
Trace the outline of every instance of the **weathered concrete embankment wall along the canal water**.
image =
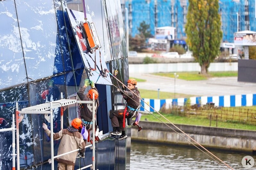
[[[139,124],[143,126],[143,129],[138,132],[137,126],[132,126],[132,140],[192,145],[188,142],[191,139],[186,135],[179,132],[188,141],[163,123],[140,121]],[[178,132],[173,125],[168,124],[168,126]],[[245,152],[256,151],[256,131],[190,125],[176,126],[204,147]]]

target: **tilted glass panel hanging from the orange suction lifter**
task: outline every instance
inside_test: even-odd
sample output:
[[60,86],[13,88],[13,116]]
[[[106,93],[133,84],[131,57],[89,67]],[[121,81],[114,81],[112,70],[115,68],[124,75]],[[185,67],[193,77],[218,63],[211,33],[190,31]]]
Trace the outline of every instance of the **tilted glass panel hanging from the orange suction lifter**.
[[[66,9],[66,11],[68,13],[69,21],[73,28],[73,33],[75,35],[76,42],[78,44],[78,47],[82,56],[84,66],[87,68],[95,68],[97,70],[97,71],[92,71],[91,74],[88,73],[90,80],[98,84],[110,85],[111,84],[110,77],[107,76],[105,78],[101,76],[101,75],[104,75],[104,69],[107,68],[103,56],[101,57],[99,50],[94,51],[94,54],[90,54],[90,52],[88,52],[87,50],[87,44],[85,39],[82,36],[82,31],[81,31],[82,28],[80,26],[80,22],[84,21],[84,13],[74,11],[74,10],[69,10],[69,9]],[[89,14],[87,15],[87,19],[88,21],[91,22],[91,17]],[[95,59],[96,59],[96,62],[95,62]]]

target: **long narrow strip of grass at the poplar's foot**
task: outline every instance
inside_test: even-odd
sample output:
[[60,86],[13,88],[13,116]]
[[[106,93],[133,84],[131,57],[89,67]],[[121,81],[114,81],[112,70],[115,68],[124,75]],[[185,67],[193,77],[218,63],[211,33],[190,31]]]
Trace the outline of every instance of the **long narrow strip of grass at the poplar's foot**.
[[[154,75],[174,78],[174,73],[153,73]],[[177,72],[177,79],[182,80],[207,80],[211,77],[230,77],[237,76],[237,72],[209,72],[208,75],[199,74],[198,72]]]

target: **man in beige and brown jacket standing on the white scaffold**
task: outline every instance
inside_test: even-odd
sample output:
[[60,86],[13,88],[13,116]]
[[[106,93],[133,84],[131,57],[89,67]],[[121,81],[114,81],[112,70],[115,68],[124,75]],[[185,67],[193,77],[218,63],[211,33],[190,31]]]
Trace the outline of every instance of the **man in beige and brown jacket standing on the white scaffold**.
[[[80,153],[84,153],[85,143],[83,141],[83,136],[78,132],[78,128],[81,126],[81,119],[75,118],[71,122],[71,126],[53,134],[53,140],[61,139],[58,155],[73,151],[76,149],[81,149]],[[43,123],[43,129],[46,134],[51,137],[51,131],[47,128],[47,125]],[[73,170],[76,161],[76,152],[72,152],[61,156],[56,159],[58,162],[58,170]]]

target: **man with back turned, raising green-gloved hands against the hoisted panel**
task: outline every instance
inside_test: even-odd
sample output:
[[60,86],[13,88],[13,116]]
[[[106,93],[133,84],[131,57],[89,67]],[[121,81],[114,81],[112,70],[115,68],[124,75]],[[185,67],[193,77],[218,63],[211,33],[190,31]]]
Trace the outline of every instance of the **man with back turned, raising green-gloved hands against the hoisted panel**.
[[[84,91],[86,87],[91,86],[91,89],[88,91],[87,94],[84,94]],[[98,99],[98,90],[96,89],[94,82],[90,81],[89,79],[86,79],[84,81],[84,86],[81,87],[77,95],[80,98],[80,100],[83,101],[92,101],[92,96],[94,93],[94,99],[95,99],[95,115],[99,106],[99,99]],[[83,125],[86,126],[87,130],[92,130],[92,104],[81,104],[80,105],[80,117],[82,119]]]

